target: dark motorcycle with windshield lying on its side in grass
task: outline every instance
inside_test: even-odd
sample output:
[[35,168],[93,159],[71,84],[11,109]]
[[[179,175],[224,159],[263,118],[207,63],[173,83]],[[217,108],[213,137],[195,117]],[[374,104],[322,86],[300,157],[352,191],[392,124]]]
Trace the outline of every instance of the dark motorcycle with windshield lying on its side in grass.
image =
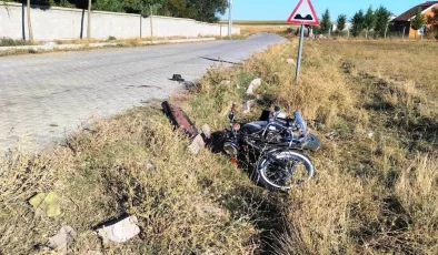
[[258,121],[238,123],[232,104],[228,119],[222,150],[232,163],[255,159],[253,173],[259,184],[271,191],[288,191],[313,177],[313,164],[302,152],[318,150],[320,141],[308,133],[300,112],[290,119],[276,106],[273,112],[263,111]]

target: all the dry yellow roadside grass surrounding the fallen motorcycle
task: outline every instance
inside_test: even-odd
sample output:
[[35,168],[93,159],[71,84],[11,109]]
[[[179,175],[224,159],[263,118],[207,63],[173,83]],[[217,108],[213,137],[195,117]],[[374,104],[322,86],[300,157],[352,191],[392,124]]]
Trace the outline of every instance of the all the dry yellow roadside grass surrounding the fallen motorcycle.
[[[212,68],[175,98],[198,126],[223,129],[231,102],[255,78],[258,105],[300,110],[322,142],[318,175],[289,195],[257,187],[226,156],[191,155],[158,104],[138,108],[38,155],[0,163],[0,253],[39,253],[60,225],[74,254],[434,254],[438,249],[436,43],[306,42],[301,82],[287,59],[296,41],[242,65]],[[424,58],[419,58],[424,57]],[[428,62],[428,60],[430,60]],[[435,92],[434,92],[435,91]],[[335,139],[323,139],[327,133]],[[38,215],[28,198],[61,196],[61,216]],[[125,213],[141,235],[103,246],[92,230]],[[21,238],[27,236],[27,238]]]

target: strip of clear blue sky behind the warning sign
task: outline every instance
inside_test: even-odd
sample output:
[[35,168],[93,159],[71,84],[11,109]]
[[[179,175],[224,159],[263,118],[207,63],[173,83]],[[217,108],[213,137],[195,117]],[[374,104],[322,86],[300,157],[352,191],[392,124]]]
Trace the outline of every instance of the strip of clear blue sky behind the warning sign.
[[[348,19],[359,9],[368,9],[369,6],[378,8],[384,6],[394,14],[398,16],[406,10],[427,0],[311,0],[318,17],[328,8],[331,20],[339,14],[347,14]],[[233,0],[235,20],[287,20],[298,0]],[[228,12],[221,17],[228,19]]]

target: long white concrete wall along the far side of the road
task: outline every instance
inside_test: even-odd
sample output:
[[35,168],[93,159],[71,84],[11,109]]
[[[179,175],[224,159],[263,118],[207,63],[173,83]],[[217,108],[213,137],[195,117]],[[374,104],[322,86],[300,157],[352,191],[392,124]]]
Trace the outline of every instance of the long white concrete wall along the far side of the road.
[[[152,30],[151,19],[152,18]],[[199,22],[191,19],[153,16],[140,18],[139,14],[116,12],[91,12],[91,37],[108,39],[139,38],[140,35],[165,37],[208,37],[227,35],[228,26]],[[88,14],[86,10],[69,8],[48,8],[32,6],[31,22],[34,40],[67,40],[87,37]],[[239,28],[232,28],[240,34]],[[0,2],[0,38],[28,39],[26,6]]]

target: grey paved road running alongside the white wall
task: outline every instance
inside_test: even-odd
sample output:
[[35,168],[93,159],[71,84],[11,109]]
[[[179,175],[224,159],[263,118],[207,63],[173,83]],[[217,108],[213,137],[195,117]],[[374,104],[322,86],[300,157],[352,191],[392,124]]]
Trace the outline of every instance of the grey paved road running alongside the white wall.
[[257,34],[241,41],[110,49],[0,58],[0,151],[18,144],[41,149],[84,123],[152,99],[201,78],[215,59],[240,62],[283,42]]

